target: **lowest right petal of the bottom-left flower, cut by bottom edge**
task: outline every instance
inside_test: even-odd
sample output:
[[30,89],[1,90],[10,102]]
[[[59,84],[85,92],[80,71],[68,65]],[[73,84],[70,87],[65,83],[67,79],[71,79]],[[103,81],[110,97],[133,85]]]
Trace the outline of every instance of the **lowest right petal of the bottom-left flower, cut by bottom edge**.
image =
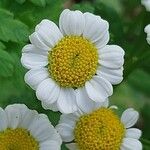
[[40,150],[60,150],[60,146],[57,141],[44,141],[40,143]]

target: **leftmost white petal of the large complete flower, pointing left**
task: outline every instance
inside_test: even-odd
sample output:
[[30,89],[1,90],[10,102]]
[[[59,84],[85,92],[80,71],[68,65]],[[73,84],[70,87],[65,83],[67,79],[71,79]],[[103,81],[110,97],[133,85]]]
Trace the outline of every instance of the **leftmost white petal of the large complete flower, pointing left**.
[[38,49],[34,45],[26,45],[22,51],[21,63],[25,68],[40,68],[48,64],[47,52]]

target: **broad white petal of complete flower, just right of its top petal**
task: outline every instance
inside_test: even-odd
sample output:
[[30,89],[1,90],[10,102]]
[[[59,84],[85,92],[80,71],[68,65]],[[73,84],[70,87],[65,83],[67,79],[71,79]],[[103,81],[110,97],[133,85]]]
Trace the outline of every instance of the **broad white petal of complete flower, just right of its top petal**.
[[106,35],[107,38],[105,38],[105,41],[109,39],[108,34],[109,24],[107,21],[91,13],[84,13],[84,17],[85,17],[85,28],[83,32],[84,37],[90,39],[93,43],[103,41]]

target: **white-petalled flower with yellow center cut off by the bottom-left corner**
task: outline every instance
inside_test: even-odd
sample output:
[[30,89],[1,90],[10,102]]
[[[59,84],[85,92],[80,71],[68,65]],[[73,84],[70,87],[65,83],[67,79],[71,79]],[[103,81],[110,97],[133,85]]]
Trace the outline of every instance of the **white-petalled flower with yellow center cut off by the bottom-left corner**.
[[23,104],[0,108],[0,150],[60,150],[61,143],[46,115]]

